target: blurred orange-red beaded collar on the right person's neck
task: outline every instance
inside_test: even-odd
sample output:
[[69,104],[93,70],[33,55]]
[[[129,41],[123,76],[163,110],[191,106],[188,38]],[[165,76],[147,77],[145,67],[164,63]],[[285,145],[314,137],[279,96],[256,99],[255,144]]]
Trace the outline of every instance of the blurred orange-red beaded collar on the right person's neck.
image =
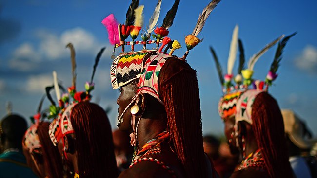
[[245,160],[241,162],[239,170],[249,167],[265,167],[265,161],[260,149],[247,156]]

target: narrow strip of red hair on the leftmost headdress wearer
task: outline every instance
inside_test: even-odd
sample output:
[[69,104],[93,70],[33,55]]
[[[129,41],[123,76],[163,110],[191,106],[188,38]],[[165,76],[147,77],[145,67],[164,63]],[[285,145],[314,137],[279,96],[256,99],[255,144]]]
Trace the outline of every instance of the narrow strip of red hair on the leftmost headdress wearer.
[[48,127],[50,123],[40,122],[37,133],[42,146],[42,155],[44,160],[44,169],[46,177],[48,178],[62,178],[63,177],[63,163],[60,158],[57,146],[52,144],[50,135],[48,134]]

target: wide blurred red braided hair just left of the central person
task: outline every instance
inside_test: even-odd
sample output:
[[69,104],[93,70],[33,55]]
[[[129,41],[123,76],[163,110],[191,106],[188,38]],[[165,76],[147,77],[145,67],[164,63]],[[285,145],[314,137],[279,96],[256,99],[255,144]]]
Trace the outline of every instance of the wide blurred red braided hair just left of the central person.
[[79,102],[70,120],[75,132],[80,178],[117,178],[112,131],[106,112],[94,103]]

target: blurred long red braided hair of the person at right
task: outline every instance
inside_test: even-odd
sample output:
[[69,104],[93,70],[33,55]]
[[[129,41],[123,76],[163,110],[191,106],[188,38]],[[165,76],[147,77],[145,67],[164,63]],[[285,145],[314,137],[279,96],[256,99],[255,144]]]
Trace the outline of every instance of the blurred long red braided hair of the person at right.
[[292,178],[283,117],[277,101],[267,92],[258,94],[252,105],[251,117],[251,127],[270,177]]

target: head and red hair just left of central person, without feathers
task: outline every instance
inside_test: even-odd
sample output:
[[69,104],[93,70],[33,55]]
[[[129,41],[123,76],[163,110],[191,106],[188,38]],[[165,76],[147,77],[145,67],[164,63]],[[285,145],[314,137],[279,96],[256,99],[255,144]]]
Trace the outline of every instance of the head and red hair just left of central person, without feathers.
[[105,111],[82,101],[66,107],[61,120],[63,151],[75,177],[117,177],[111,126]]

